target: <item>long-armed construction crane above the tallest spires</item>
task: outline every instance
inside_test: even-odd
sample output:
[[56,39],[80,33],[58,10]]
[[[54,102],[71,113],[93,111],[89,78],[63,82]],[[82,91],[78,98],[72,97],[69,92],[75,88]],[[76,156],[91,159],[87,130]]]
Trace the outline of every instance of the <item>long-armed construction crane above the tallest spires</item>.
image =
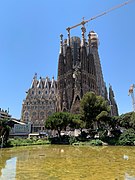
[[127,4],[129,4],[129,3],[131,3],[132,1],[134,1],[134,0],[128,0],[128,1],[126,1],[126,2],[124,2],[124,3],[122,3],[122,4],[119,4],[119,5],[117,5],[117,6],[114,6],[114,7],[110,8],[110,9],[108,9],[107,11],[104,11],[103,13],[100,13],[100,14],[98,14],[98,15],[96,15],[96,16],[88,19],[88,20],[84,20],[84,18],[83,18],[83,21],[82,21],[82,22],[80,22],[80,23],[78,23],[78,24],[76,24],[76,25],[74,25],[74,26],[71,26],[71,27],[66,28],[66,30],[68,31],[68,38],[70,39],[70,30],[71,30],[71,29],[76,28],[76,27],[82,25],[82,26],[83,26],[82,31],[85,32],[85,30],[84,30],[84,25],[85,25],[86,23],[88,23],[88,22],[90,22],[90,21],[92,21],[92,20],[94,20],[94,19],[96,19],[96,18],[98,18],[98,17],[101,17],[101,16],[103,16],[103,15],[105,15],[105,14],[107,14],[107,13],[109,13],[109,12],[115,10],[115,9],[118,9],[118,8],[120,8],[120,7],[122,7],[122,6],[125,6],[125,5],[127,5]]

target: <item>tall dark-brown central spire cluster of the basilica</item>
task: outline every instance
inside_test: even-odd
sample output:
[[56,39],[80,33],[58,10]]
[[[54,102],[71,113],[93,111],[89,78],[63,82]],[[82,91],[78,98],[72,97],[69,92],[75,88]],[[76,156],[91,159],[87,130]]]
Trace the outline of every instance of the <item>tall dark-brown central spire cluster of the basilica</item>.
[[[59,54],[57,78],[57,111],[79,111],[82,96],[93,91],[97,95],[106,97],[106,87],[98,54],[98,36],[94,31],[89,32],[85,39],[86,29],[82,30],[82,39],[70,37],[68,46],[63,46],[63,53]],[[70,31],[68,31],[70,32]],[[69,39],[70,37],[70,39]],[[63,98],[66,94],[67,98]],[[63,107],[64,104],[67,106]]]

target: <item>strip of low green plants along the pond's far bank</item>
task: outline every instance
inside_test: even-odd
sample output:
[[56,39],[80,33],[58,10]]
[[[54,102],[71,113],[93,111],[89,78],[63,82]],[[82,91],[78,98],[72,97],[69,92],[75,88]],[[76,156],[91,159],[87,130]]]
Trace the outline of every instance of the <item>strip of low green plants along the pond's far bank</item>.
[[104,146],[104,145],[120,145],[120,146],[135,146],[135,134],[134,131],[128,130],[121,134],[120,137],[105,137],[102,139],[86,139],[84,137],[74,136],[61,136],[52,137],[48,139],[9,139],[6,147],[16,146],[29,146],[29,145],[47,145],[47,144],[63,144],[73,146]]

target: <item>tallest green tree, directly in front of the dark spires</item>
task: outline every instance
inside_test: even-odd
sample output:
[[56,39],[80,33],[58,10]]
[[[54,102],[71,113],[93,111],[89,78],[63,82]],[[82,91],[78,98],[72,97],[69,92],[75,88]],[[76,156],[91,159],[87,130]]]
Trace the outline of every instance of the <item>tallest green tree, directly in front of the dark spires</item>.
[[110,107],[107,101],[93,92],[86,93],[81,100],[81,116],[86,128],[96,129],[105,124],[109,117]]

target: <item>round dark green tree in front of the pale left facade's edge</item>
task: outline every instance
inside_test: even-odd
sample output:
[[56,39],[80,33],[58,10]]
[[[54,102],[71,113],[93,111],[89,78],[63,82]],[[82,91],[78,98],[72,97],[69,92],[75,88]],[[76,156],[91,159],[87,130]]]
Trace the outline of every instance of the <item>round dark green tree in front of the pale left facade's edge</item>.
[[47,118],[45,127],[47,129],[57,130],[59,137],[61,137],[61,131],[66,130],[70,119],[71,116],[68,112],[55,112]]

